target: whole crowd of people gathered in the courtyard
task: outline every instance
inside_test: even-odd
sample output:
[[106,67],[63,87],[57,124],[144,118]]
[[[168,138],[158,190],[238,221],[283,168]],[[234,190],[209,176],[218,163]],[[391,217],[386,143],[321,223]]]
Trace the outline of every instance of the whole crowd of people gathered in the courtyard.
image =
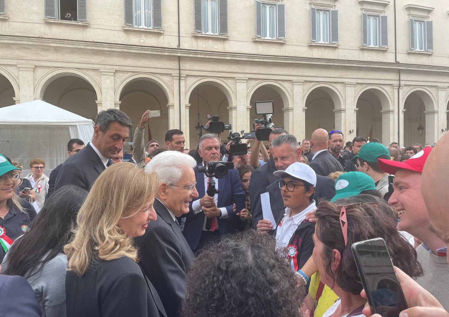
[[[449,134],[387,148],[277,128],[232,155],[220,134],[197,149],[177,129],[145,142],[148,113],[129,161],[118,109],[48,177],[40,158],[21,178],[0,154],[2,316],[379,317],[352,245],[382,238],[400,316],[449,317]],[[231,166],[214,173],[217,161]]]

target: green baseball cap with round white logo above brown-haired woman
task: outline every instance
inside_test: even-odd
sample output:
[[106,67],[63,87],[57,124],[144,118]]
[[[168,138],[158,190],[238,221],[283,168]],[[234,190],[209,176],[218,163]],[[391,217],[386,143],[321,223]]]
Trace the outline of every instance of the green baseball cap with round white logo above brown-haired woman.
[[369,190],[376,190],[373,178],[362,172],[344,173],[335,181],[335,196],[330,202],[332,203],[340,198],[352,197],[362,191]]

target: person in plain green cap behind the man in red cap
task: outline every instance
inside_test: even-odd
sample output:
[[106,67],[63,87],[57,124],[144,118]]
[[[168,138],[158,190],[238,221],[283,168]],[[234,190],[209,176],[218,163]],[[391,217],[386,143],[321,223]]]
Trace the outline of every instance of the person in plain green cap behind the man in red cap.
[[379,168],[377,159],[389,160],[388,149],[381,143],[366,143],[360,148],[354,159],[357,159],[358,171],[373,178],[376,189],[383,198],[388,192],[388,173]]

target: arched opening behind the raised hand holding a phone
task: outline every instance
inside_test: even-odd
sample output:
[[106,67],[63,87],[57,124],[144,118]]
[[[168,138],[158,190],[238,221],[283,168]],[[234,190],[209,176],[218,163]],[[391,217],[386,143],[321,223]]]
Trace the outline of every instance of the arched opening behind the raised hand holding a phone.
[[149,138],[157,140],[161,146],[164,146],[165,133],[169,130],[168,98],[158,83],[148,78],[132,79],[123,87],[119,94],[119,100],[120,110],[131,118],[132,133],[134,133],[145,110],[159,110],[161,112],[160,117],[154,117],[150,120],[150,135],[148,125],[145,126],[144,139],[145,141],[148,141]]

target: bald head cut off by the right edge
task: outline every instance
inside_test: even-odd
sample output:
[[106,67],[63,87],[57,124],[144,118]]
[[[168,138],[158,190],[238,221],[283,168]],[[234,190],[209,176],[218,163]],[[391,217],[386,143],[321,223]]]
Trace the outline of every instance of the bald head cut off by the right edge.
[[[445,133],[427,158],[421,176],[421,191],[433,231],[449,246],[449,132]],[[446,252],[449,264],[449,255]],[[446,281],[447,282],[447,281]]]

